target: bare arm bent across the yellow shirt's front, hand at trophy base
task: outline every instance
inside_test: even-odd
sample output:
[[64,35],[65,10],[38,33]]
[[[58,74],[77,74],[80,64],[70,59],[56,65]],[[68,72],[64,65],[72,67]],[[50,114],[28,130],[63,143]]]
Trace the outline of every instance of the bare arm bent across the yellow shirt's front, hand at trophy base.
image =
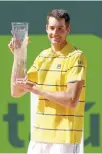
[[70,106],[72,108],[75,108],[78,103],[83,85],[84,81],[69,83],[68,90],[62,92],[39,92],[38,88],[34,86],[32,87],[32,92],[38,95],[42,95],[46,99],[55,102],[56,104],[60,104],[65,107]]

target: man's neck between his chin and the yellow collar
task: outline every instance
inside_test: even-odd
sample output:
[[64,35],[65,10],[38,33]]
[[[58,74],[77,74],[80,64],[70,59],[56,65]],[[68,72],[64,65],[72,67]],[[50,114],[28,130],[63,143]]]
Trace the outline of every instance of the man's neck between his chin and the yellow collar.
[[54,44],[54,45],[51,44],[51,48],[52,48],[53,52],[61,51],[66,44],[67,44],[67,41],[65,40],[61,44]]

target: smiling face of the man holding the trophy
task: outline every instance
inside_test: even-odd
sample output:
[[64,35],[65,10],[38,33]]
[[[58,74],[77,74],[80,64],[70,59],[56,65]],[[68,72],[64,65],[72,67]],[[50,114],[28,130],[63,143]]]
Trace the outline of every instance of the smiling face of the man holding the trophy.
[[65,19],[57,20],[54,17],[50,17],[48,25],[46,25],[46,31],[51,44],[60,45],[66,40],[70,27],[66,26]]

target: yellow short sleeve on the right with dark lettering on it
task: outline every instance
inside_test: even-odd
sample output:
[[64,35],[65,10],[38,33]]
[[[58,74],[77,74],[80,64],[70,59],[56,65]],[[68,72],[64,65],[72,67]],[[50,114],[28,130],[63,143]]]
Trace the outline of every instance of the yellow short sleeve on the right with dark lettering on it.
[[71,59],[70,67],[67,72],[67,83],[86,80],[87,61],[83,53],[76,54]]

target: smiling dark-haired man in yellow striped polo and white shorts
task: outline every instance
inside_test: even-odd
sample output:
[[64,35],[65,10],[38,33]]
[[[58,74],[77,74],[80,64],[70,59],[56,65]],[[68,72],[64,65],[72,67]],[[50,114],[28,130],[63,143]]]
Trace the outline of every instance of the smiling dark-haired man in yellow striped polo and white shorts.
[[[38,95],[36,123],[28,154],[79,153],[83,132],[86,58],[67,42],[70,17],[54,9],[47,16],[46,32],[51,48],[42,51],[27,72],[25,80],[15,80],[14,56],[11,94]],[[13,50],[12,41],[9,48]]]

